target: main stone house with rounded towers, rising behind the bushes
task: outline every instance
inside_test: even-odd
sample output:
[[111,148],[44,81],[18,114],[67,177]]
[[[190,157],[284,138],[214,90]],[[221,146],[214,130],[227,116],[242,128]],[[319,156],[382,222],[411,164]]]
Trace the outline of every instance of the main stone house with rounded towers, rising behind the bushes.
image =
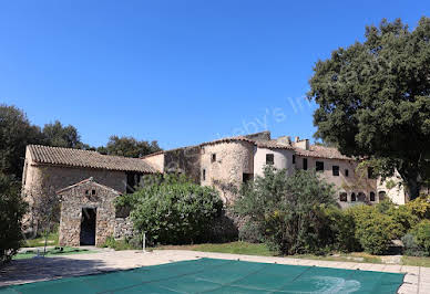
[[[181,160],[168,160],[172,153],[181,154]],[[160,172],[190,175],[192,169],[192,178],[197,183],[217,188],[226,203],[234,201],[234,191],[242,182],[262,176],[265,165],[285,168],[288,175],[297,169],[315,169],[335,186],[337,201],[342,208],[360,202],[377,203],[383,197],[405,203],[402,190],[388,189],[368,170],[358,171],[359,160],[341,155],[336,148],[310,145],[308,139],[296,137],[291,140],[288,136],[272,139],[269,132],[160,151],[143,159],[152,162]],[[182,162],[187,162],[187,166]]]

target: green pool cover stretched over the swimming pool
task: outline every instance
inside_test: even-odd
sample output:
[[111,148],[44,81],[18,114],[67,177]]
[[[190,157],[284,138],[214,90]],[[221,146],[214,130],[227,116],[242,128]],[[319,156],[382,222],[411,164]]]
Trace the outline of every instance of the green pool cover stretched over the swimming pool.
[[403,274],[201,259],[0,288],[6,293],[396,293]]

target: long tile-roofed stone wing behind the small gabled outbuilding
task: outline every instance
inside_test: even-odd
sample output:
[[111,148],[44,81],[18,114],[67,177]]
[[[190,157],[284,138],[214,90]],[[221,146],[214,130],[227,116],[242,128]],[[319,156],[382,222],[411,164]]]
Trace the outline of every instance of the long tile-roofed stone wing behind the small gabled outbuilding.
[[38,231],[38,214],[51,213],[50,206],[58,203],[57,191],[64,187],[93,178],[100,185],[125,193],[133,191],[143,175],[156,172],[150,162],[137,158],[29,145],[22,176],[23,196],[30,204],[25,223]]

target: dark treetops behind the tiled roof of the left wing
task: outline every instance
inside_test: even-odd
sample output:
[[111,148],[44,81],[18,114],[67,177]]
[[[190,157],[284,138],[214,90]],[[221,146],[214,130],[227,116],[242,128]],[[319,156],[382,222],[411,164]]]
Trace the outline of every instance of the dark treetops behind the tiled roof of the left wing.
[[111,136],[106,146],[91,147],[81,141],[78,129],[61,122],[45,124],[43,129],[32,125],[25,113],[16,106],[0,104],[0,172],[22,176],[25,146],[47,146],[92,149],[101,154],[140,157],[161,150],[157,141],[137,140],[133,137]]

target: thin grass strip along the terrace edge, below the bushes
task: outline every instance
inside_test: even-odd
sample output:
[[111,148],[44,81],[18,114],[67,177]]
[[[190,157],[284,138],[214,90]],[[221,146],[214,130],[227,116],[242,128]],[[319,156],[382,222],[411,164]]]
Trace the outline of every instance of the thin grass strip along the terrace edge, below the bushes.
[[[234,253],[245,255],[260,255],[260,256],[276,256],[274,252],[265,244],[255,244],[248,242],[231,242],[231,243],[207,243],[196,245],[163,245],[154,248],[156,250],[175,249],[175,250],[193,250],[203,252],[218,252],[218,253]],[[365,252],[351,253],[332,253],[328,255],[299,254],[288,255],[286,258],[307,259],[307,260],[322,260],[322,261],[346,261],[359,263],[383,263],[378,255],[371,255]],[[417,265],[430,267],[430,258],[402,256],[402,265]]]

